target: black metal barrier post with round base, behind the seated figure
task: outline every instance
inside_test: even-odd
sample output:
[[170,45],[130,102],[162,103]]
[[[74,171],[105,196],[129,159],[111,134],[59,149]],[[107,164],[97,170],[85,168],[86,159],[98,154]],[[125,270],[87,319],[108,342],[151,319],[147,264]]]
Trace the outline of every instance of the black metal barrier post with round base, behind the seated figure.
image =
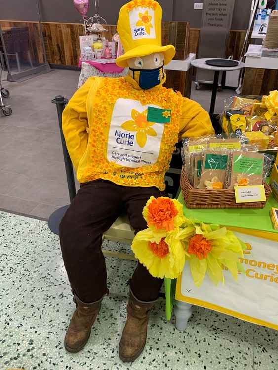
[[[69,197],[72,203],[74,197],[76,196],[74,170],[73,170],[72,161],[71,161],[71,158],[70,158],[67,146],[66,146],[66,141],[64,138],[63,130],[62,130],[62,114],[65,109],[65,105],[68,103],[68,99],[65,99],[62,95],[57,95],[55,99],[52,100],[52,103],[56,104],[56,107],[57,107],[59,129],[60,129],[65,168],[66,168],[66,174],[67,174]],[[52,213],[52,215],[50,215],[48,219],[48,227],[50,228],[52,232],[54,232],[57,235],[59,235],[60,222],[68,208],[69,208],[69,205],[57,209],[54,213]]]

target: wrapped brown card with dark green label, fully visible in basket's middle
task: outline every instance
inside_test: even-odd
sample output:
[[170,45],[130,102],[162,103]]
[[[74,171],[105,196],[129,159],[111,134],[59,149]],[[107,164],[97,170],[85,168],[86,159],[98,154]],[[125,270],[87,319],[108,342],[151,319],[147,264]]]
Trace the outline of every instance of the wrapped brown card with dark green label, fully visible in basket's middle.
[[228,151],[205,150],[203,154],[200,189],[223,189],[228,165]]

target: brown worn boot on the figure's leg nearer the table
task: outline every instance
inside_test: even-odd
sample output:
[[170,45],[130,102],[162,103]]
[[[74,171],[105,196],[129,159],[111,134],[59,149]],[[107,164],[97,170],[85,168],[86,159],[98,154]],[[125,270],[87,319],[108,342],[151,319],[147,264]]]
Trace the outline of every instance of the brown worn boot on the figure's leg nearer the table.
[[127,318],[119,343],[119,358],[132,362],[141,355],[147,339],[147,327],[153,302],[138,300],[130,290],[127,304]]

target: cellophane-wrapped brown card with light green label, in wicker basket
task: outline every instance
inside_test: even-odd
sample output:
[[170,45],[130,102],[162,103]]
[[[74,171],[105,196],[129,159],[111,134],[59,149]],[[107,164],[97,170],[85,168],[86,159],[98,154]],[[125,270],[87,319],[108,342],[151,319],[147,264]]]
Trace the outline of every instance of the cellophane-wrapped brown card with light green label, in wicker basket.
[[261,153],[234,151],[231,159],[231,180],[229,188],[234,186],[262,185],[264,155]]

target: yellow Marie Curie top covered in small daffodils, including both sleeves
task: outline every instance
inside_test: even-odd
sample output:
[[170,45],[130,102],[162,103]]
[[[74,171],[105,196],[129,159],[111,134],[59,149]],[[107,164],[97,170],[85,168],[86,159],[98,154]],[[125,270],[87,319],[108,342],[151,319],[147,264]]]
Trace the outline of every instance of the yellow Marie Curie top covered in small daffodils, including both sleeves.
[[130,76],[91,77],[77,90],[62,127],[79,183],[164,190],[175,144],[214,133],[208,113],[164,82],[142,90]]

